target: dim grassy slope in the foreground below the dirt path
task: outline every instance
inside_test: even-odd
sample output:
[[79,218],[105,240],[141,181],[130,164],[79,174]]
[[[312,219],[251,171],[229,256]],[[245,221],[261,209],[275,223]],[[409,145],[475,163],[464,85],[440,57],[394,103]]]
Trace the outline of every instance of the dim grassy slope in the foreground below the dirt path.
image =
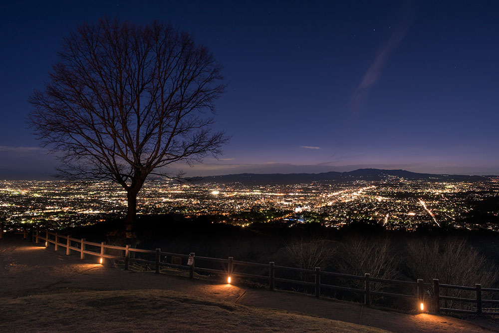
[[172,291],[107,291],[0,299],[2,332],[385,332]]

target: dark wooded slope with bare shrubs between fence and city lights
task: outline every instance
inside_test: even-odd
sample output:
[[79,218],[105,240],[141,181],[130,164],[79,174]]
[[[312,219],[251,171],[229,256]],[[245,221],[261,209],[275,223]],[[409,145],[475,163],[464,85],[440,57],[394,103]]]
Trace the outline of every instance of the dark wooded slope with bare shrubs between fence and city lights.
[[[108,220],[93,226],[65,230],[73,237],[125,245],[120,220]],[[112,231],[109,231],[112,230]],[[443,284],[499,287],[499,234],[487,230],[468,231],[421,227],[415,232],[390,231],[368,221],[352,222],[337,230],[320,223],[288,227],[280,222],[253,223],[243,228],[214,222],[210,216],[186,219],[180,214],[140,216],[137,247],[161,248],[162,251],[212,258],[234,257],[258,263],[275,262],[279,266],[354,274],[371,277]],[[266,275],[266,272],[251,272]],[[287,274],[282,277],[313,281],[312,275]],[[332,279],[323,283],[363,288],[362,281]],[[306,291],[292,286],[285,289]],[[413,295],[411,288],[382,283],[372,290]],[[431,288],[427,296],[431,296]],[[443,290],[442,295],[469,297],[466,291]],[[470,295],[468,295],[470,294]],[[345,300],[361,301],[360,295],[333,293]],[[410,309],[413,305],[398,300],[373,298],[383,306]],[[470,304],[447,306],[469,309]]]

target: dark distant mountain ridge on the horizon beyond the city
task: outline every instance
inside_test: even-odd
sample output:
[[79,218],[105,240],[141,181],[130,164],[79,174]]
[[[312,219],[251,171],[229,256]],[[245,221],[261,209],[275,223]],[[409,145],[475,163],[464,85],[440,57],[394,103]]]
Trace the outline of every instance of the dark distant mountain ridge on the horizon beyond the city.
[[428,181],[477,181],[487,179],[489,176],[468,176],[468,175],[447,175],[416,173],[406,170],[383,170],[383,169],[357,169],[349,172],[322,172],[322,173],[272,173],[255,174],[241,173],[221,176],[203,177],[205,182],[240,182],[252,184],[300,184],[314,181],[348,181],[348,180],[384,180],[388,178],[404,178],[408,180],[428,180]]

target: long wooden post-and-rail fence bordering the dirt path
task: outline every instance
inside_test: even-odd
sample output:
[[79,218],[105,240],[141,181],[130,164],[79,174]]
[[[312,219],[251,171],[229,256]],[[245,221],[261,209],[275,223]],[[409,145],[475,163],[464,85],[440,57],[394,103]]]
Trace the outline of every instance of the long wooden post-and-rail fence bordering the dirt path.
[[[3,224],[0,228],[0,239],[2,237]],[[189,255],[163,252],[161,249],[156,250],[143,250],[132,248],[129,245],[125,247],[108,245],[105,242],[94,243],[83,239],[72,238],[71,235],[61,235],[57,232],[51,232],[48,230],[39,230],[38,228],[31,228],[28,231],[26,228],[22,232],[16,232],[17,234],[22,234],[24,239],[30,238],[31,241],[40,243],[40,241],[45,242],[45,247],[48,248],[51,244],[54,245],[54,250],[58,251],[59,247],[66,249],[66,255],[70,255],[71,251],[78,252],[80,254],[80,259],[85,259],[86,255],[94,256],[99,258],[99,262],[102,264],[104,259],[115,259],[124,261],[124,269],[128,270],[131,262],[141,263],[145,265],[153,265],[155,272],[160,273],[161,267],[170,267],[176,269],[183,269],[189,271],[190,279],[194,279],[194,273],[204,273],[204,274],[216,274],[220,276],[225,276],[228,283],[231,283],[233,278],[244,278],[248,280],[264,281],[268,285],[270,290],[274,290],[275,283],[287,284],[287,285],[298,285],[304,288],[311,288],[314,290],[315,297],[319,298],[321,296],[321,291],[332,290],[335,292],[347,292],[354,293],[363,296],[364,305],[370,306],[373,296],[395,298],[395,299],[405,299],[414,302],[414,307],[418,311],[424,312],[433,307],[433,312],[438,314],[440,312],[457,312],[466,314],[476,314],[476,315],[499,315],[499,309],[493,308],[489,311],[483,310],[484,304],[499,305],[499,300],[487,300],[483,299],[482,294],[484,292],[496,293],[499,295],[499,289],[494,288],[482,288],[481,285],[476,284],[475,287],[465,287],[465,286],[454,286],[440,284],[439,280],[434,279],[433,283],[424,283],[423,280],[418,279],[417,281],[401,281],[401,280],[387,280],[371,277],[369,273],[364,276],[333,273],[321,271],[319,267],[315,270],[306,270],[293,267],[277,266],[274,262],[269,262],[268,264],[251,263],[246,261],[237,261],[233,257],[228,259],[219,258],[209,258],[196,256],[195,253],[190,253]],[[28,237],[29,236],[29,237]],[[114,254],[106,253],[106,250],[113,250]],[[110,251],[107,251],[110,252]],[[120,253],[121,252],[121,253]],[[119,255],[118,255],[119,254]],[[135,254],[144,254],[148,258],[136,258]],[[154,260],[151,260],[154,259]],[[168,260],[169,259],[169,260]],[[168,262],[170,261],[170,262]],[[208,268],[205,263],[212,263],[218,269]],[[203,265],[205,264],[205,265]],[[205,267],[203,267],[205,266]],[[212,265],[213,266],[213,265]],[[243,268],[253,268],[259,270],[259,274],[245,273]],[[276,277],[277,273],[282,272],[294,272],[301,274],[302,276],[313,277],[313,282],[301,281],[296,279],[279,278]],[[280,274],[282,275],[282,274]],[[349,281],[360,281],[363,283],[363,288],[351,288],[345,286],[338,286],[333,284],[325,284],[321,282],[321,278],[341,278]],[[306,280],[306,279],[305,279]],[[234,281],[234,280],[233,280]],[[398,293],[388,293],[382,291],[372,290],[372,286],[375,283],[382,283],[386,285],[401,285],[414,287],[416,293],[413,295],[408,294],[398,294]],[[440,289],[457,289],[466,291],[475,291],[475,298],[459,298],[440,295]],[[431,291],[432,296],[427,294],[427,291]],[[458,302],[468,302],[475,304],[475,311],[472,310],[462,310],[455,308],[441,307],[442,301],[458,301]],[[452,304],[452,303],[451,303]],[[414,308],[413,308],[414,309]],[[496,311],[490,311],[496,310]]]

